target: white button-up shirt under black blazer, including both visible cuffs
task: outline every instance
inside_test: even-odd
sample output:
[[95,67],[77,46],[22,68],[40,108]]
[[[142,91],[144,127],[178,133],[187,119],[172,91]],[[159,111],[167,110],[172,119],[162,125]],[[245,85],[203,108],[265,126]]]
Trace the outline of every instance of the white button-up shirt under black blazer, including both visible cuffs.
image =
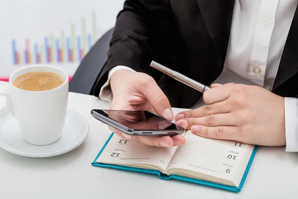
[[[235,0],[224,67],[254,84],[272,89],[298,0]],[[112,101],[109,71],[100,90],[102,100]],[[298,99],[285,98],[286,151],[298,152]]]

